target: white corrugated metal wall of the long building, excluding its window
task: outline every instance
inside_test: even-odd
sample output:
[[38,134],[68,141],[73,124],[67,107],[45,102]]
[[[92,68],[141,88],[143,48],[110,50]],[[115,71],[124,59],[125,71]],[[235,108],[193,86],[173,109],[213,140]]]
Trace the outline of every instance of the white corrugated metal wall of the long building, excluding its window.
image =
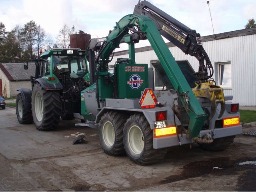
[[[225,95],[233,95],[233,102],[241,106],[256,106],[256,34],[224,38],[203,42],[213,67],[218,62],[230,62],[232,70],[232,87],[224,88]],[[170,47],[175,60],[188,60],[195,71],[198,71],[196,58],[185,55],[179,48]],[[128,58],[128,54],[114,56],[110,65],[117,58]],[[157,60],[153,50],[136,52],[136,63],[147,63]],[[218,68],[217,68],[218,69]],[[214,71],[215,79],[218,71]]]

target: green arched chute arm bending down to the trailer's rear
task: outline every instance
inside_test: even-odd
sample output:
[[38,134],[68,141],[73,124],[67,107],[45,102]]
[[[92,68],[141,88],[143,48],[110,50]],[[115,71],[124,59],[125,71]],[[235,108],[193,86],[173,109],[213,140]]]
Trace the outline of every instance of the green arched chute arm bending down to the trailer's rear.
[[180,100],[190,116],[187,136],[197,137],[207,118],[207,114],[202,110],[178,64],[158,32],[156,25],[150,18],[131,14],[124,16],[116,23],[114,29],[106,37],[106,41],[102,44],[96,58],[96,64],[98,64],[97,76],[106,75],[112,52],[115,48],[119,47],[121,39],[129,33],[129,30],[138,34],[140,38],[146,36],[152,45],[154,52],[166,71],[166,75],[178,91]]

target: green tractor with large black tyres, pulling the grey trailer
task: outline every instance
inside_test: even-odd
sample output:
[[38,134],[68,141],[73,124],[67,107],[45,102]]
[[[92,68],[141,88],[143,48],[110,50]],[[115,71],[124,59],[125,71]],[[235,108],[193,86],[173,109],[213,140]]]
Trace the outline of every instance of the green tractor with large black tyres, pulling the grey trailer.
[[71,120],[80,114],[80,92],[90,85],[85,51],[52,49],[33,61],[32,90],[19,88],[16,114],[21,124],[34,120],[38,130],[51,130],[58,126],[60,117]]

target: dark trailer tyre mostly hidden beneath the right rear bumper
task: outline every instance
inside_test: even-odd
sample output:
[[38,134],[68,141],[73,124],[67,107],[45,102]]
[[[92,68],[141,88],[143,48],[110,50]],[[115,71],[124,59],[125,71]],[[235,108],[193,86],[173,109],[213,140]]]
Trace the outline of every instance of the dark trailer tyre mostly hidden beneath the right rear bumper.
[[232,144],[234,142],[235,137],[236,136],[223,137],[223,138],[214,139],[212,143],[198,143],[198,144],[204,150],[220,151],[220,150],[224,150],[226,147]]

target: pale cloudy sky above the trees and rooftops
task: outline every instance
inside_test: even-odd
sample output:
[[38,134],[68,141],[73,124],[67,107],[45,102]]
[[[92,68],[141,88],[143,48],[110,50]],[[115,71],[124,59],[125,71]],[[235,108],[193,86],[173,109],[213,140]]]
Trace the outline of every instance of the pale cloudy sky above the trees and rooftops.
[[[213,34],[206,0],[148,0],[201,36]],[[92,38],[108,35],[115,22],[132,14],[138,0],[0,0],[0,22],[10,31],[30,20],[53,38],[64,23],[74,25]],[[215,34],[243,29],[256,19],[256,0],[210,0]]]

